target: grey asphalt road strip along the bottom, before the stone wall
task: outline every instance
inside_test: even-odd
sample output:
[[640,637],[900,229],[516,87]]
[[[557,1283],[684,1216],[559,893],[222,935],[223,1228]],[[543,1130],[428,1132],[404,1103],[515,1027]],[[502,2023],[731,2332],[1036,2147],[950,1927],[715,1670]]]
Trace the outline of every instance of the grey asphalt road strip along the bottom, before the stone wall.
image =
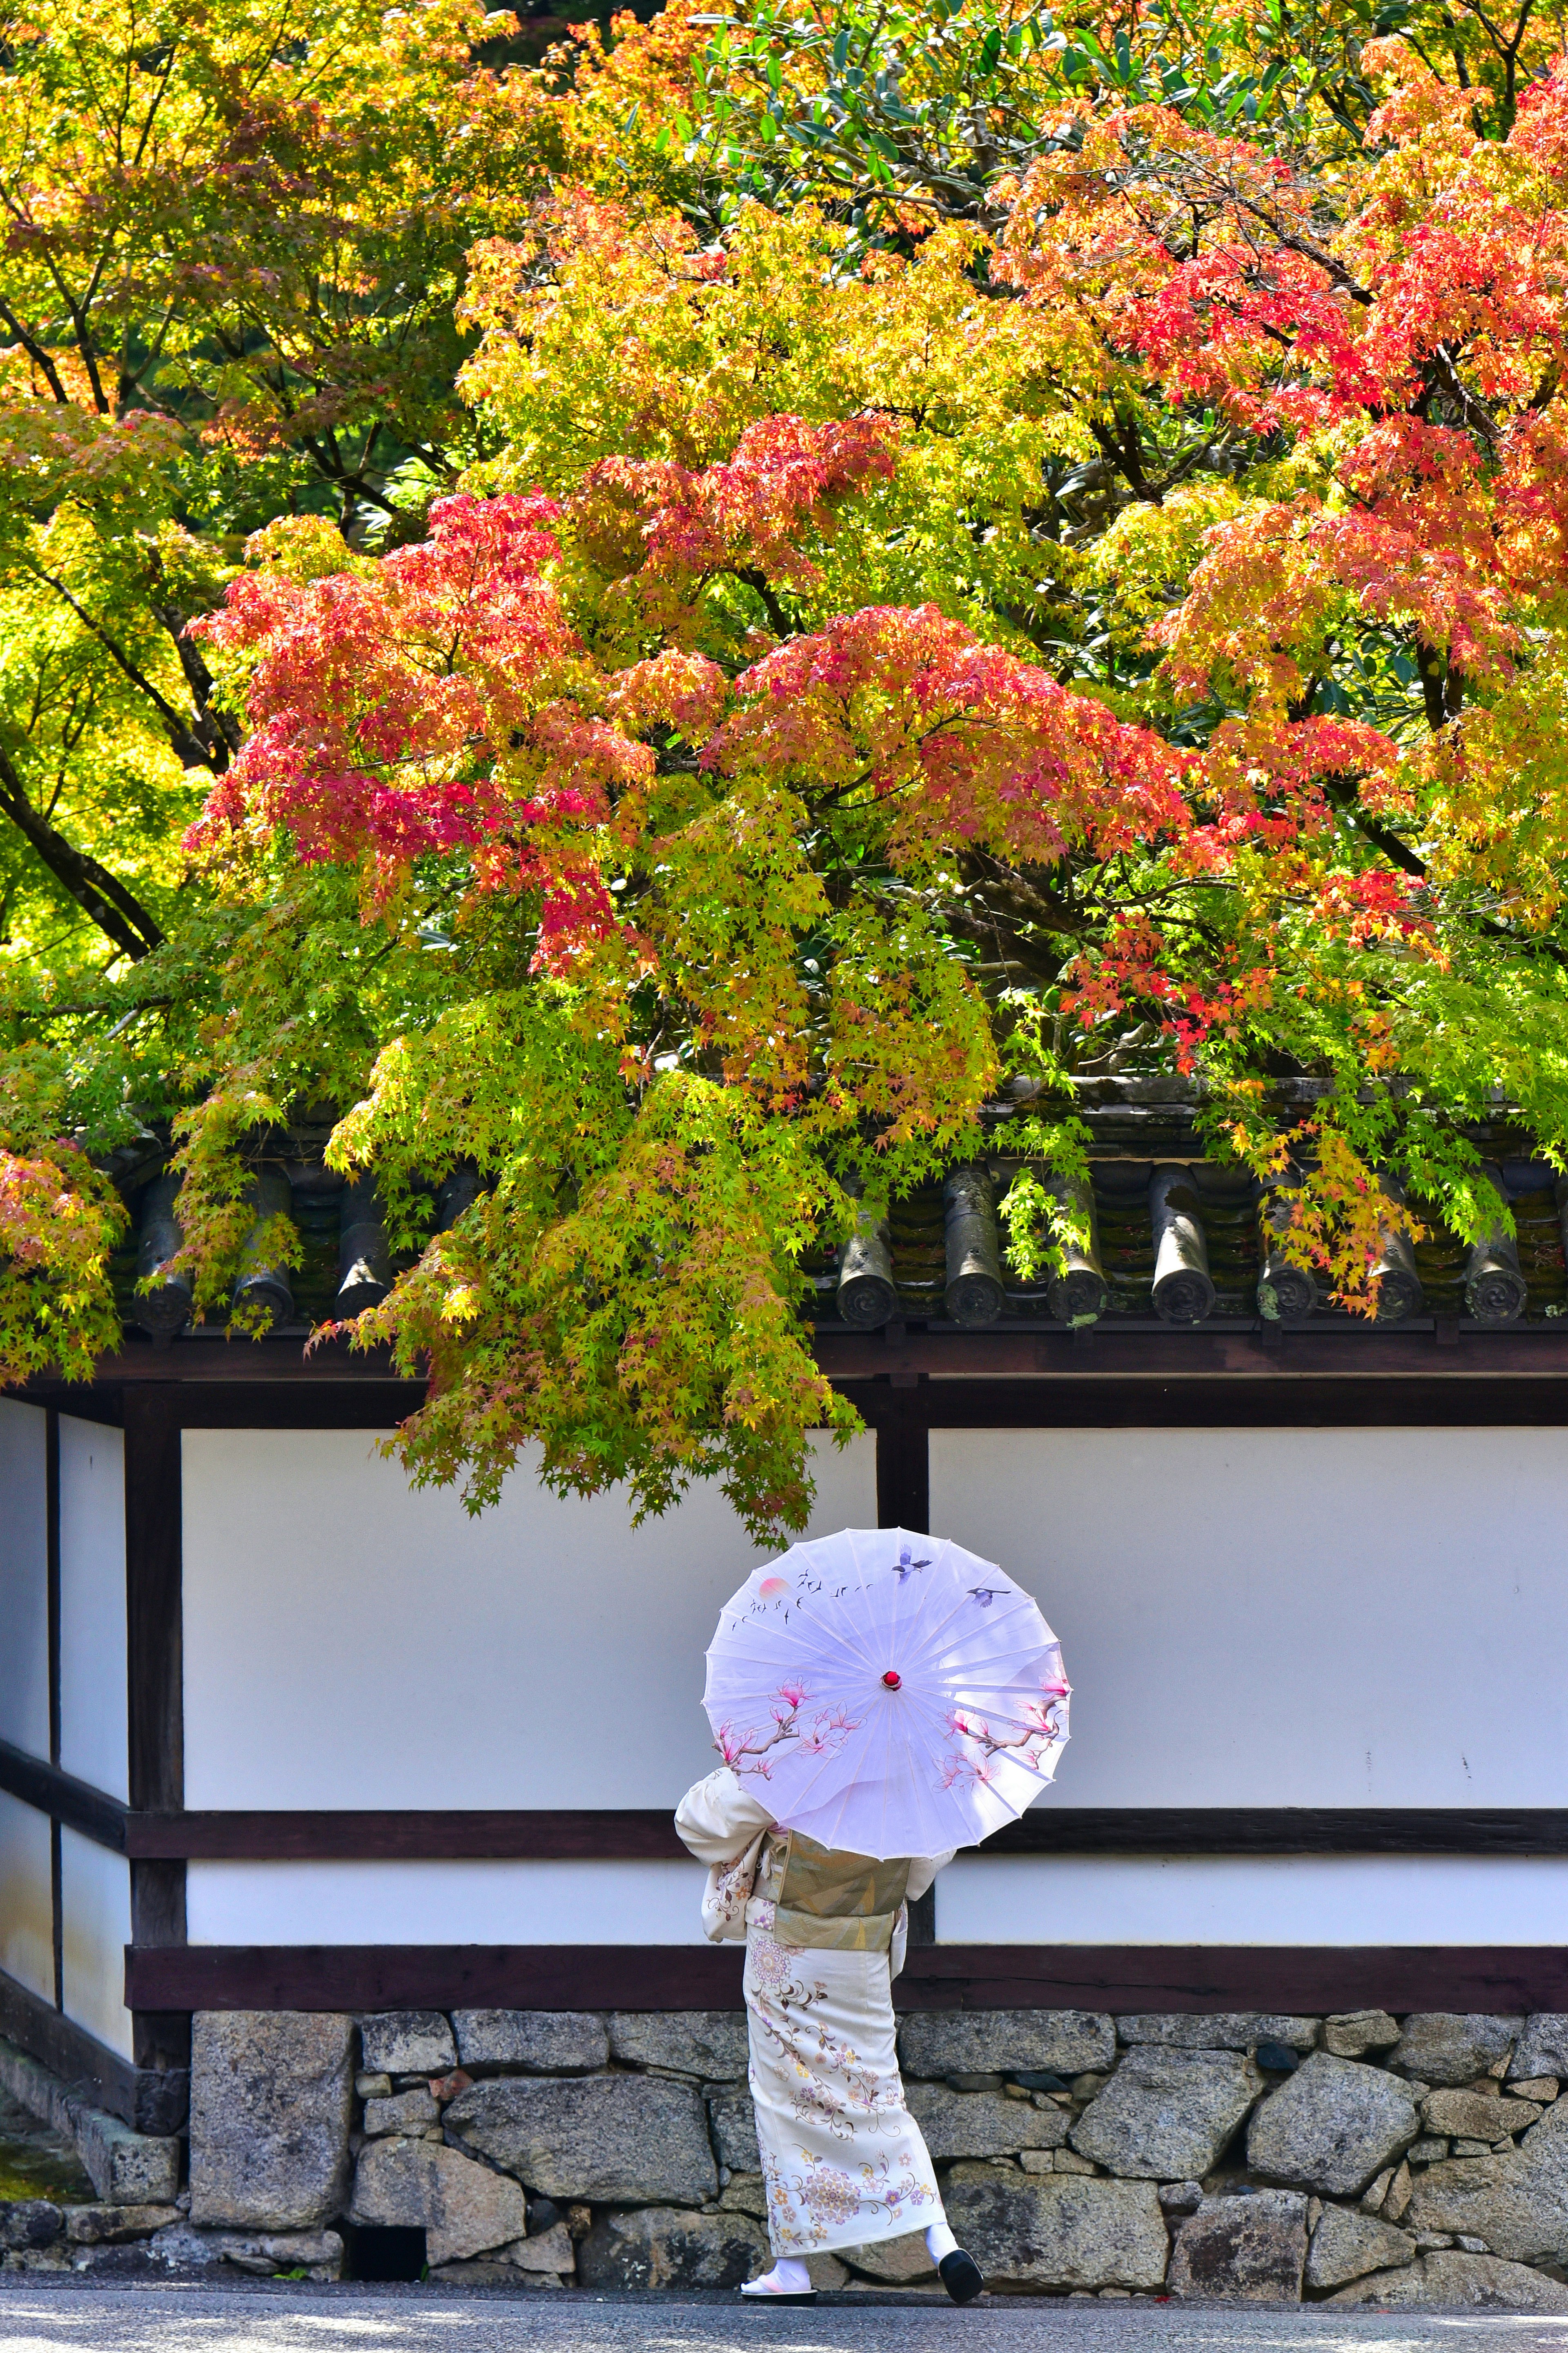
[[0,2282],[0,2353],[1568,2353],[1568,2313],[928,2304]]

